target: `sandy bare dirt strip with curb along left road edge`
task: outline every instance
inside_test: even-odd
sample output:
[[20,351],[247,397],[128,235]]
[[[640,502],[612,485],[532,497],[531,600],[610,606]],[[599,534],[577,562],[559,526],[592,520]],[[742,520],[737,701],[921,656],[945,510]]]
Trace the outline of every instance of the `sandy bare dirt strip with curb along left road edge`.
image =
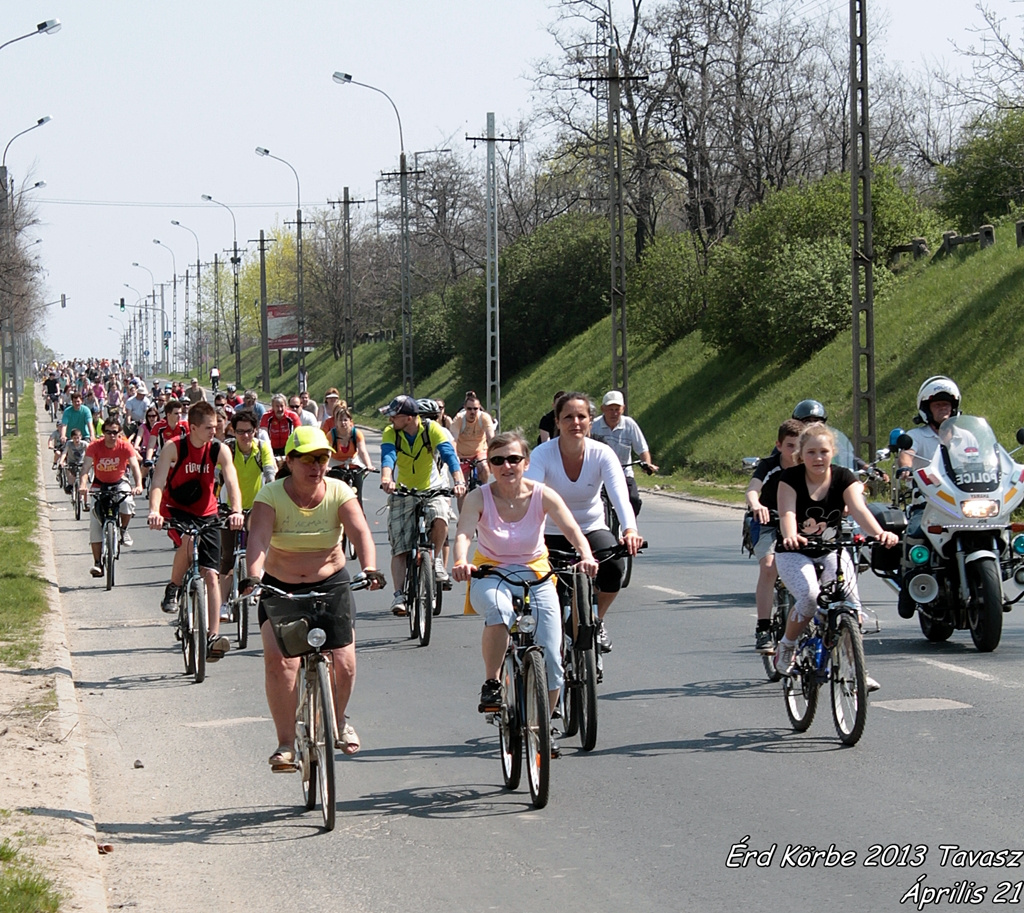
[[65,895],[61,910],[106,913],[86,731],[75,693],[50,532],[51,507],[43,481],[52,477],[45,444],[48,429],[34,431],[40,445],[40,575],[52,581],[50,611],[38,661],[26,668],[0,667],[0,808],[4,812],[0,839],[24,846],[25,854],[55,882]]

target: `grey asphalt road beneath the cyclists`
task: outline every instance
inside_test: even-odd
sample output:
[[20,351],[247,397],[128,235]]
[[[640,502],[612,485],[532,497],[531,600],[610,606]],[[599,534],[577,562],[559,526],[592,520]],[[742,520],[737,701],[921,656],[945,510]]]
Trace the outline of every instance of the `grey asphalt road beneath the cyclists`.
[[[497,731],[476,712],[480,619],[453,593],[419,648],[388,592],[359,594],[351,721],[364,747],[339,754],[327,834],[318,812],[299,807],[297,778],[268,770],[258,638],[191,684],[159,609],[166,535],[136,522],[106,593],[88,573],[87,523],[51,480],[47,494],[94,813],[116,847],[112,910],[313,901],[346,913],[594,913],[753,901],[846,913],[916,907],[925,888],[954,885],[962,898],[984,888],[988,904],[1000,882],[1024,879],[1020,867],[959,867],[970,860],[941,849],[1024,850],[1021,610],[1006,616],[999,649],[980,655],[965,633],[926,642],[863,580],[882,622],[865,639],[882,690],[860,744],[842,748],[826,701],[809,732],[792,731],[752,650],[756,565],[739,554],[738,513],[650,496],[651,548],[609,616],[597,748],[564,740],[543,811],[525,785],[503,788]],[[368,486],[386,567],[382,504]],[[739,865],[737,844],[759,855]],[[800,865],[794,847],[808,845],[834,853]]]

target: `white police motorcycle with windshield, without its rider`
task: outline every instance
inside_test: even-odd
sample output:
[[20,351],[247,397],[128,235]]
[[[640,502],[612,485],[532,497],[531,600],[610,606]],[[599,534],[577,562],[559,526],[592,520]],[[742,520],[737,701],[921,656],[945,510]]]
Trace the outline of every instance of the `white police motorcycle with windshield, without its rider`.
[[[869,505],[884,529],[904,533],[901,561],[879,550],[871,569],[898,594],[900,615],[918,613],[928,640],[970,628],[987,653],[999,644],[1002,613],[1024,596],[1002,593],[1011,577],[1024,586],[1024,524],[1010,520],[1024,501],[1024,465],[977,416],[951,416],[938,437],[931,460],[914,455],[909,479],[894,476],[890,506]],[[900,429],[892,438],[895,450],[913,447]]]

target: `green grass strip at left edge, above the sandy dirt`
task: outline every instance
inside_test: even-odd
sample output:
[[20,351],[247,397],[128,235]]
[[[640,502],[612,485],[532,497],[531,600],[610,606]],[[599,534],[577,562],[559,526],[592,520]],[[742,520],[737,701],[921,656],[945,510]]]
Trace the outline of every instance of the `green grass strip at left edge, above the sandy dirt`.
[[[0,662],[24,664],[39,653],[47,582],[38,573],[39,455],[36,397],[27,387],[18,403],[22,433],[3,441],[0,472]],[[0,907],[0,909],[3,909]]]

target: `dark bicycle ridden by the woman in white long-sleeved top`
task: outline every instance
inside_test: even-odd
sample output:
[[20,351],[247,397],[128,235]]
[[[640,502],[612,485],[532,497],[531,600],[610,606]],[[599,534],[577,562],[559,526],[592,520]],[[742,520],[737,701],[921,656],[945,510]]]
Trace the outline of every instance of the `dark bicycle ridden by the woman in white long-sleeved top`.
[[[644,549],[647,542],[640,547]],[[599,561],[609,561],[629,554],[625,545],[602,549],[594,554]],[[597,686],[604,678],[604,663],[597,644],[597,598],[594,581],[574,570],[580,560],[575,552],[549,549],[548,559],[558,573],[558,602],[562,618],[562,671],[564,684],[559,695],[558,713],[564,734],[580,734],[584,751],[597,746]],[[562,583],[562,575],[567,576]],[[571,582],[569,582],[569,580]]]

